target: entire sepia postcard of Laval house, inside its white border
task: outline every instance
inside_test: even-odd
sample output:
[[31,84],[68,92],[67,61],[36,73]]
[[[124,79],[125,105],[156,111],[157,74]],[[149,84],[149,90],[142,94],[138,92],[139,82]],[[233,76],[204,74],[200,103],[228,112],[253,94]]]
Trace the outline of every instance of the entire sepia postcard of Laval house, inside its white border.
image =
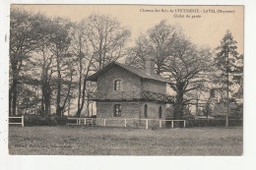
[[11,4],[10,155],[242,156],[244,6]]

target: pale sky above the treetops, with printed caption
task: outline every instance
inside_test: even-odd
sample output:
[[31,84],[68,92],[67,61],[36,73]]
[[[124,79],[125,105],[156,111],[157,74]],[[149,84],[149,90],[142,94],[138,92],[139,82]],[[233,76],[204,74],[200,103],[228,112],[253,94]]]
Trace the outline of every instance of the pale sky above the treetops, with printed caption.
[[[146,6],[146,5],[12,5],[49,17],[66,17],[79,22],[92,14],[116,17],[132,32],[131,43],[161,20],[178,25],[198,46],[216,48],[229,29],[243,53],[243,6]],[[228,12],[228,13],[226,13]],[[190,16],[190,18],[187,18]],[[197,18],[194,18],[196,16]]]

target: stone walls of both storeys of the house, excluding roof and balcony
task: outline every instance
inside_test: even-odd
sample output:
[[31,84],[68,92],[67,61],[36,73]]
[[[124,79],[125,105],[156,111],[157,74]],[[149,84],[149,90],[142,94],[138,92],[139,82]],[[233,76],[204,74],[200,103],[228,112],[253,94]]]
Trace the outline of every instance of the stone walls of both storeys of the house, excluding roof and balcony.
[[[120,91],[114,90],[114,81],[121,80],[122,88]],[[120,93],[125,94],[125,91],[141,91],[142,89],[166,93],[166,84],[154,80],[142,80],[140,77],[126,71],[125,69],[115,66],[109,69],[107,72],[97,78],[97,92],[100,94],[106,94],[106,99],[110,100],[98,100],[96,102],[96,124],[98,126],[104,125],[104,119],[106,120],[106,126],[124,127],[124,120],[127,119],[127,125],[131,122],[128,119],[145,119],[144,117],[144,106],[148,105],[148,119],[159,119],[159,108],[161,106],[161,119],[165,120],[165,105],[158,102],[144,102],[136,101],[133,98],[130,101],[120,100],[118,96]],[[118,97],[117,97],[118,96]],[[128,99],[127,95],[123,98]],[[103,99],[103,98],[102,98]],[[113,101],[115,100],[115,101]],[[118,101],[120,100],[120,101]],[[121,104],[121,116],[114,117],[113,109],[114,104]],[[114,120],[109,120],[114,119]],[[141,126],[145,128],[145,120],[134,122],[129,124],[131,126]],[[160,121],[149,120],[150,127],[159,127]],[[164,122],[162,122],[162,125]]]

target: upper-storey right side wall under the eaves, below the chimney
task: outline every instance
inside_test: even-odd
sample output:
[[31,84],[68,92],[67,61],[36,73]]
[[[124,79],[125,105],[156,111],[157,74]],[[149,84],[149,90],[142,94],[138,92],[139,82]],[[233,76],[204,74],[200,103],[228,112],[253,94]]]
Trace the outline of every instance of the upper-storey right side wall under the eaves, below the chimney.
[[144,79],[142,82],[142,86],[142,88],[146,91],[158,92],[162,94],[166,93],[166,83]]

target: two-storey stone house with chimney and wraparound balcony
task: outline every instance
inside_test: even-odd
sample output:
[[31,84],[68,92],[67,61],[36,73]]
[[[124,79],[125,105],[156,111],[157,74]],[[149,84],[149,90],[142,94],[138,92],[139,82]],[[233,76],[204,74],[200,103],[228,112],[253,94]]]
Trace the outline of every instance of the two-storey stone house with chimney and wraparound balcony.
[[168,80],[157,75],[154,68],[151,60],[145,70],[112,62],[92,75],[89,81],[97,84],[93,97],[97,125],[103,125],[102,119],[112,120],[116,126],[123,125],[123,119],[165,120],[165,103],[173,98],[166,95]]

